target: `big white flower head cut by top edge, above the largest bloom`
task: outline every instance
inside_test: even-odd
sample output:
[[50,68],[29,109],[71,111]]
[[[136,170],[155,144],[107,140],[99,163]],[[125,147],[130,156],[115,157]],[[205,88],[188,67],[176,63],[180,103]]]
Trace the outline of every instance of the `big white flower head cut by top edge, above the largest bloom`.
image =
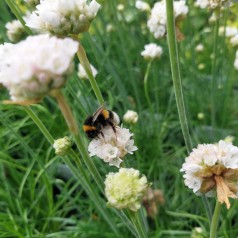
[[95,0],[42,0],[27,18],[26,24],[38,31],[59,36],[87,31],[100,4]]

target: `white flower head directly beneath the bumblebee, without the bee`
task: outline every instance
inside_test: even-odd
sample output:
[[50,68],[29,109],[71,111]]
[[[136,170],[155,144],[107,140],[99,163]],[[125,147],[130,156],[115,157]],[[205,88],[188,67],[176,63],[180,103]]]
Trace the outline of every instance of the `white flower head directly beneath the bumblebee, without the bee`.
[[115,127],[114,131],[111,126],[104,127],[101,132],[101,135],[89,143],[89,155],[96,155],[109,165],[119,168],[123,157],[137,150],[134,140],[131,139],[133,134],[121,127]]

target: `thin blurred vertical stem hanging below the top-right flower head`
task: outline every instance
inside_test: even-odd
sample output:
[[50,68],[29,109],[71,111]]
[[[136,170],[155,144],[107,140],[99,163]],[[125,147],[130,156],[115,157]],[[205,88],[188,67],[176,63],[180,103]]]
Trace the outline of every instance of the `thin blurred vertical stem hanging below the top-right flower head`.
[[217,62],[217,43],[218,43],[218,31],[219,31],[219,10],[214,12],[217,17],[214,34],[213,34],[213,60],[212,60],[212,80],[211,80],[211,124],[213,127],[216,126],[216,105],[217,105],[217,78],[216,78],[216,62]]

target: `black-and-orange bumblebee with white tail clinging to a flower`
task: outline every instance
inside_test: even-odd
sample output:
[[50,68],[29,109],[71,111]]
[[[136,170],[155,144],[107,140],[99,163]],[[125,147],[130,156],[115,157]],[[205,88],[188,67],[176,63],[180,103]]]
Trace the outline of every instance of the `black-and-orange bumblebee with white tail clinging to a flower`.
[[87,137],[92,140],[97,138],[100,134],[104,136],[102,129],[106,126],[111,126],[113,131],[116,132],[115,127],[119,122],[119,117],[115,112],[101,106],[93,115],[87,117],[83,124],[83,130]]

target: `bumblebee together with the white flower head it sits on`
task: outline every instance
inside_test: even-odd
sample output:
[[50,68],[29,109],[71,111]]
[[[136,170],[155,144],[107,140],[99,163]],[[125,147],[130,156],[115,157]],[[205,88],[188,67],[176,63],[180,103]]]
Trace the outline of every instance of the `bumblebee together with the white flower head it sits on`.
[[87,117],[83,125],[83,130],[91,139],[89,155],[96,155],[118,168],[126,154],[133,154],[137,150],[131,139],[133,134],[128,129],[119,127],[119,122],[119,116],[115,112],[100,107]]

